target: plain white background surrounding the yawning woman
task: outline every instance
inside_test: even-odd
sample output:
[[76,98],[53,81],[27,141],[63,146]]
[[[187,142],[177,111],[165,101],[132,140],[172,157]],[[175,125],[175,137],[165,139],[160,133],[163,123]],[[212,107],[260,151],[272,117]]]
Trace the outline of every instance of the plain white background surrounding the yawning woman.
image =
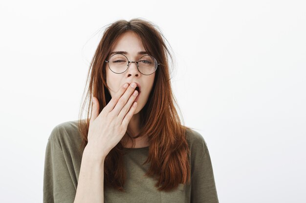
[[0,202],[42,202],[47,139],[78,119],[98,31],[140,17],[172,47],[175,97],[208,145],[219,202],[305,203],[305,10],[303,0],[1,1]]

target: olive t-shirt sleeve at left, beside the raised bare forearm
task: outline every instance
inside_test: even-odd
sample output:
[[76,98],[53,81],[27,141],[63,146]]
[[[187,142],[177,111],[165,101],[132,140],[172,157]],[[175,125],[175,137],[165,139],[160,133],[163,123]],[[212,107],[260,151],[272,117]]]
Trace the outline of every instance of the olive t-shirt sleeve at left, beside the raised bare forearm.
[[43,203],[73,203],[76,190],[56,136],[57,127],[52,130],[45,150]]

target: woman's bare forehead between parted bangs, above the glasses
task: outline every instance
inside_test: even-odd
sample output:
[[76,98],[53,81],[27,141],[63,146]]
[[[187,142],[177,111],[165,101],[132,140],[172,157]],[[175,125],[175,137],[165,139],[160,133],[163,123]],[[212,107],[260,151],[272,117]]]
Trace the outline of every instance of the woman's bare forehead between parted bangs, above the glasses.
[[145,52],[145,48],[140,37],[129,31],[116,40],[110,52],[126,52],[126,55],[139,55],[138,52]]

